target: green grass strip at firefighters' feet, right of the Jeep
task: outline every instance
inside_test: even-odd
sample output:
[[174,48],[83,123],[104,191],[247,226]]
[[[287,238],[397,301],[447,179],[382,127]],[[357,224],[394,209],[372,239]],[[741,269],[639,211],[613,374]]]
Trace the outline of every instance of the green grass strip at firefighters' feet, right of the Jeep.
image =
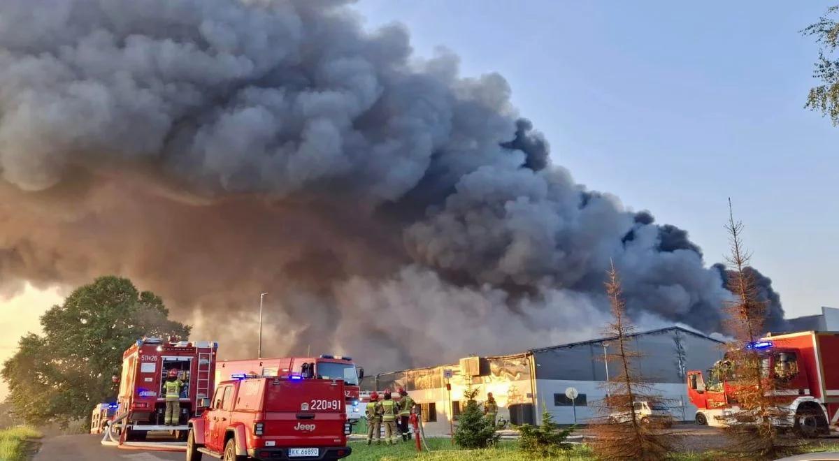
[[[417,453],[414,441],[396,445],[371,445],[366,442],[351,442],[352,461],[401,461],[407,459],[472,461],[475,459],[501,459],[503,461],[530,461],[531,457],[520,452],[518,442],[502,440],[494,448],[481,450],[463,450],[451,445],[449,438],[429,438],[430,452]],[[552,461],[582,461],[591,459],[591,450],[582,445],[569,450],[559,458],[547,458]]]

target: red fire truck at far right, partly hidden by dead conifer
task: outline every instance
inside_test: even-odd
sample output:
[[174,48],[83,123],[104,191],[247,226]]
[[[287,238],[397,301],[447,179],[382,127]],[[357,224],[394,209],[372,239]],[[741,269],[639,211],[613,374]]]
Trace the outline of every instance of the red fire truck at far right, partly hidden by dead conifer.
[[[808,436],[828,433],[839,421],[839,332],[803,331],[769,335],[749,347],[759,350],[767,379],[778,384],[773,391],[782,406],[789,409],[788,421]],[[709,370],[689,371],[687,391],[696,405],[696,422],[725,426],[727,417],[737,412],[732,397],[734,384]]]

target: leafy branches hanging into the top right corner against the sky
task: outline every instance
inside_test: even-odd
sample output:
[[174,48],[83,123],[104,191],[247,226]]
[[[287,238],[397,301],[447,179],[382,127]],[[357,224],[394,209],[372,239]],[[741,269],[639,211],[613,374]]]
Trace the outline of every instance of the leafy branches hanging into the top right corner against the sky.
[[805,107],[819,111],[831,117],[834,125],[839,125],[839,60],[836,48],[839,47],[839,23],[833,18],[839,7],[827,9],[825,16],[801,32],[816,39],[821,46],[819,59],[816,60],[813,76],[821,80],[821,85],[810,88]]

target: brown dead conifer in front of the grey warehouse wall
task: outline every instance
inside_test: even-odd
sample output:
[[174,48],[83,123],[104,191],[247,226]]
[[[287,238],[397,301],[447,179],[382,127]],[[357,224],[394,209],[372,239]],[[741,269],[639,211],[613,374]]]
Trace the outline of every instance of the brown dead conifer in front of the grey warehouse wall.
[[667,402],[638,371],[637,360],[643,355],[632,344],[635,328],[628,319],[620,277],[613,263],[608,277],[606,288],[613,320],[605,333],[613,337],[610,340],[616,344],[617,352],[607,355],[606,361],[617,364],[620,371],[602,386],[607,397],[598,405],[601,415],[592,425],[596,438],[591,448],[603,460],[664,459],[678,446],[678,438],[670,430],[673,420],[647,411],[659,412]]

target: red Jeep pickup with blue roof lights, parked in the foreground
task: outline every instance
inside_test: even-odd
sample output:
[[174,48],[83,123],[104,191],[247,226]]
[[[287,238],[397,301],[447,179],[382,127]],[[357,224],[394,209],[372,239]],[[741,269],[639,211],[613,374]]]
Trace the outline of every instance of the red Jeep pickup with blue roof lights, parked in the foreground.
[[[210,402],[208,402],[210,403]],[[223,381],[189,422],[186,459],[340,459],[349,456],[344,381],[299,376]]]

